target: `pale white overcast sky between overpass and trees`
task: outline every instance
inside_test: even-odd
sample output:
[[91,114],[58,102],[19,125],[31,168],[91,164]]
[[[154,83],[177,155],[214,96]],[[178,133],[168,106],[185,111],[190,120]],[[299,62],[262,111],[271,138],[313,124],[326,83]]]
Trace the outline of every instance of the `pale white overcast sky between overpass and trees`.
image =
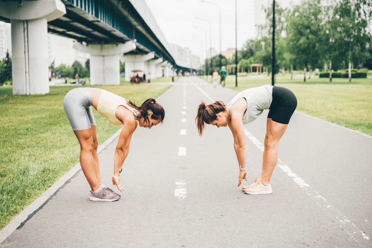
[[[235,48],[235,1],[207,0],[216,3],[221,8],[221,50]],[[298,0],[294,0],[298,2]],[[212,48],[219,52],[219,11],[218,6],[203,3],[200,0],[145,0],[153,13],[158,26],[163,31],[167,41],[182,47],[189,47],[194,54],[205,54],[205,39],[209,48],[209,24],[195,17],[206,19],[211,23]],[[255,3],[267,6],[272,0],[237,0],[237,46],[241,48],[247,39],[256,38]],[[289,7],[291,0],[276,0],[282,7]],[[194,28],[198,26],[199,28]],[[206,38],[205,31],[206,30]],[[196,36],[196,37],[195,37]],[[201,50],[202,49],[202,50]],[[201,56],[204,57],[205,55]]]

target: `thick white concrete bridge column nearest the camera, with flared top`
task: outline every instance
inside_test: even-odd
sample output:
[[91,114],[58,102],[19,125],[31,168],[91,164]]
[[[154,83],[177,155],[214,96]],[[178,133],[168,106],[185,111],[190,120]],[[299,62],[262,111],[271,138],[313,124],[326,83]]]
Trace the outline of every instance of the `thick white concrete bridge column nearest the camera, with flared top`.
[[47,22],[65,13],[60,0],[0,2],[0,16],[12,25],[13,94],[49,93]]

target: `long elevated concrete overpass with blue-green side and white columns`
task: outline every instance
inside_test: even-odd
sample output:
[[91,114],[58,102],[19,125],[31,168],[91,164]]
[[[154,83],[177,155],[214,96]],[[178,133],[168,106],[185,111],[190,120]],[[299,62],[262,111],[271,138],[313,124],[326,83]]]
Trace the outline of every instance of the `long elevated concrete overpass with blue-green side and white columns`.
[[49,92],[48,32],[91,55],[92,85],[119,85],[119,59],[126,81],[134,69],[150,79],[190,70],[172,55],[144,0],[1,1],[0,20],[12,25],[13,94]]

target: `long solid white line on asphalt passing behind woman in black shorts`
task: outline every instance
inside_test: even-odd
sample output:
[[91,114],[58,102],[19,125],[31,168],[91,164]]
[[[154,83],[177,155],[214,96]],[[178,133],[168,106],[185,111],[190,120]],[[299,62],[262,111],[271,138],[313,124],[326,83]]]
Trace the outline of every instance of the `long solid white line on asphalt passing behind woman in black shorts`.
[[[208,97],[211,102],[213,102],[212,97],[210,97],[205,91],[203,91],[199,86],[194,84],[206,97]],[[244,128],[244,134],[256,145],[261,151],[264,150],[264,145],[254,137],[247,129]],[[296,175],[288,165],[284,164],[280,159],[278,159],[278,167],[284,171],[292,180],[299,186],[305,193],[318,204],[329,216],[331,216],[335,223],[340,223],[341,229],[343,229],[347,235],[350,236],[355,242],[360,240],[369,240],[369,237],[357,226],[346,218],[339,210],[332,206],[323,196],[321,196],[316,190],[312,189],[309,184],[307,184],[301,177]],[[360,239],[363,237],[363,239]]]

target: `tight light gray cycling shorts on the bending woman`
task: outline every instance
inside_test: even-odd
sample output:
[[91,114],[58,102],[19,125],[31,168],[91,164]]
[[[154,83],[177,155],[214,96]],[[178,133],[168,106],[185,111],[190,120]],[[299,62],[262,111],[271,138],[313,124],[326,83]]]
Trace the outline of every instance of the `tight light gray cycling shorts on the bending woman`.
[[90,88],[74,88],[68,91],[63,99],[63,107],[72,130],[84,130],[96,125],[91,106]]

